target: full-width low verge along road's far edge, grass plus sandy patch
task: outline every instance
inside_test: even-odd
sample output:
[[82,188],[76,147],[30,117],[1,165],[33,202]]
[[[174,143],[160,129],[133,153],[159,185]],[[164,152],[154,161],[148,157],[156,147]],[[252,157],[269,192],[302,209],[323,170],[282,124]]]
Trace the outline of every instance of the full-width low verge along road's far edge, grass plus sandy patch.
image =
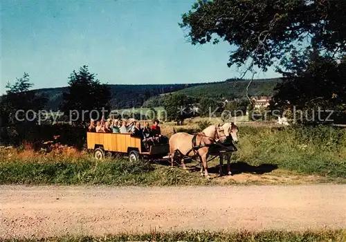
[[[189,165],[189,164],[188,164]],[[215,164],[216,165],[216,164]],[[235,164],[236,165],[236,164]],[[299,185],[315,183],[346,183],[346,178],[305,176],[276,169],[267,174],[244,173],[240,176],[212,179],[201,177],[198,171],[149,162],[83,158],[73,160],[30,160],[29,162],[0,162],[0,184],[26,185]]]

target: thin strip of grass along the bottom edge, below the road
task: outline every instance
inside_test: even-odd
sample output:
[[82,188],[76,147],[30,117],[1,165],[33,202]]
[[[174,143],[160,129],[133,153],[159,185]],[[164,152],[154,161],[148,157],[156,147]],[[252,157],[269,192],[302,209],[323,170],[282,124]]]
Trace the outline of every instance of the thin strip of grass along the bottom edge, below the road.
[[[102,237],[94,236],[63,236],[48,239],[26,239],[24,241],[244,241],[244,242],[341,242],[346,240],[345,230],[321,230],[307,232],[284,232],[284,231],[263,231],[263,232],[151,232],[147,234],[118,234]],[[19,241],[19,240],[8,240]],[[23,241],[23,240],[21,240]]]

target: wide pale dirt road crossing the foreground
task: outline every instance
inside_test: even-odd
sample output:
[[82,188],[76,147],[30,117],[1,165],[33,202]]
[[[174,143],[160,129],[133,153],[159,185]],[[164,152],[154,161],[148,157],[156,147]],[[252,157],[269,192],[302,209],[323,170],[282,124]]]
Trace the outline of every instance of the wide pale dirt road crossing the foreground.
[[0,237],[346,228],[346,185],[0,186]]

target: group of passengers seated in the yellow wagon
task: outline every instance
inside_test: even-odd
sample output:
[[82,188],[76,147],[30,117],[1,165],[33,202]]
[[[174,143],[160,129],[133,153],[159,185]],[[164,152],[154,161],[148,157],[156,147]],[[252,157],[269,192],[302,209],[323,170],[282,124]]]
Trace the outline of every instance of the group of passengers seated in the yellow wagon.
[[134,118],[122,121],[111,118],[106,121],[102,118],[102,120],[97,122],[91,120],[88,131],[97,133],[130,133],[132,137],[138,137],[143,140],[145,148],[149,149],[150,145],[160,144],[168,140],[166,136],[161,135],[159,123],[160,121],[155,119],[152,127],[149,126],[149,122],[145,122],[142,128],[140,122],[137,122]]

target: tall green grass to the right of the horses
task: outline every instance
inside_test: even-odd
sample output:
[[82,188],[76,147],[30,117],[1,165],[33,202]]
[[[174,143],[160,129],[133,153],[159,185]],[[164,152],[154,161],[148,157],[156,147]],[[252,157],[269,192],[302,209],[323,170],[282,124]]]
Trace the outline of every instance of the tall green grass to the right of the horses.
[[306,174],[346,177],[346,129],[241,127],[236,161]]

